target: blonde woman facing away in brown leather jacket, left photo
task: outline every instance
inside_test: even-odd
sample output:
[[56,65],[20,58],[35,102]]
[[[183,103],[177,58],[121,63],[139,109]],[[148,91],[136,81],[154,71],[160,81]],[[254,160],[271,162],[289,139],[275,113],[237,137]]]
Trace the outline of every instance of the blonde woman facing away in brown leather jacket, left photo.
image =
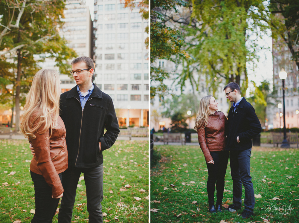
[[42,69],[33,77],[20,128],[34,148],[30,174],[35,191],[32,223],[52,222],[63,195],[62,172],[68,168],[65,126],[59,116],[57,71]]

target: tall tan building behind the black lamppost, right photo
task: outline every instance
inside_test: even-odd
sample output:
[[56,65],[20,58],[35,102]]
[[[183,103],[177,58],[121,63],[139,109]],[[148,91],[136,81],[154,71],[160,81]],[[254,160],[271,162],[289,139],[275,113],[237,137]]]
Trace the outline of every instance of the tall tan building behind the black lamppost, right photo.
[[299,128],[299,117],[296,110],[299,110],[299,75],[298,67],[292,60],[292,54],[288,46],[283,41],[272,40],[273,57],[273,85],[277,89],[277,98],[273,109],[267,109],[268,123],[273,128],[283,127],[283,108],[278,108],[278,103],[283,104],[282,80],[279,78],[279,72],[282,68],[287,72],[285,80],[285,111],[286,128]]

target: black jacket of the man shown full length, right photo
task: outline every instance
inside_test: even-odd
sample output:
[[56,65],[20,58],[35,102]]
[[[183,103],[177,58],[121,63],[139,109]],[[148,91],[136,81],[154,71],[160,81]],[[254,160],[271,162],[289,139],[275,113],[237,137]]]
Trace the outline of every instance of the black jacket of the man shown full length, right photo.
[[[245,97],[240,101],[235,113],[231,106],[228,112],[226,125],[227,144],[225,150],[245,150],[252,147],[251,139],[262,131],[260,120],[255,114],[252,105]],[[240,142],[237,142],[239,136]]]

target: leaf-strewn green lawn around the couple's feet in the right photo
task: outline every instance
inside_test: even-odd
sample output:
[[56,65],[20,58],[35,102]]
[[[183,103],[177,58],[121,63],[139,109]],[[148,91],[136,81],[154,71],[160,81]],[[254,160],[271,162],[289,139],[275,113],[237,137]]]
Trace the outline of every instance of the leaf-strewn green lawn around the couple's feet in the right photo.
[[[254,216],[242,219],[242,209],[236,213],[208,212],[208,179],[204,155],[199,146],[154,146],[162,159],[151,170],[151,222],[299,222],[299,150],[253,147],[251,177],[255,198]],[[225,175],[223,205],[232,204],[230,165]],[[244,198],[244,187],[242,198]],[[277,200],[273,200],[277,199]],[[193,202],[196,201],[196,202]],[[216,191],[215,191],[216,202]],[[194,204],[192,204],[194,203]],[[226,204],[225,204],[226,203]],[[269,205],[269,206],[268,206]],[[293,207],[293,210],[273,210],[272,207]],[[276,205],[276,206],[274,206]],[[268,206],[268,209],[267,209]],[[286,213],[281,215],[282,213]],[[276,217],[276,218],[271,218]],[[222,223],[222,222],[221,222]]]

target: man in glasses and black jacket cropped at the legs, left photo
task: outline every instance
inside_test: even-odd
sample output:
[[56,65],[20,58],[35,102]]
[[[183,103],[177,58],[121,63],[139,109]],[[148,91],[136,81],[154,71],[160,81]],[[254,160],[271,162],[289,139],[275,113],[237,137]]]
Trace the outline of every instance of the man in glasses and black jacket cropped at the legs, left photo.
[[89,223],[98,223],[103,222],[103,151],[115,143],[119,133],[118,120],[111,97],[91,82],[93,60],[82,56],[71,64],[71,74],[77,86],[60,96],[68,169],[62,176],[64,192],[58,222],[71,222],[77,184],[83,172]]

